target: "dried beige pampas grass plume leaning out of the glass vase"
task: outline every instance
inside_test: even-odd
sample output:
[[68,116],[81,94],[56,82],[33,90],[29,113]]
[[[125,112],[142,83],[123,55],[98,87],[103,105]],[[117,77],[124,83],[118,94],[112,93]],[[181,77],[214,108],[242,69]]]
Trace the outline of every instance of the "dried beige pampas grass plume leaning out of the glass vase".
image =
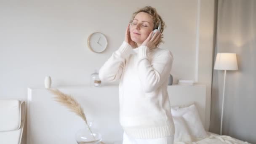
[[[89,127],[89,125],[87,123],[85,113],[84,113],[81,105],[72,96],[62,93],[58,89],[48,89],[48,90],[51,91],[51,93],[53,93],[54,95],[56,95],[56,97],[53,98],[55,101],[66,106],[71,112],[75,112],[75,114],[77,114],[79,117],[81,117],[85,121],[86,125],[88,126],[89,131],[92,134],[91,128]],[[93,134],[92,134],[92,136],[93,136]],[[93,136],[93,138],[94,138],[94,136]]]

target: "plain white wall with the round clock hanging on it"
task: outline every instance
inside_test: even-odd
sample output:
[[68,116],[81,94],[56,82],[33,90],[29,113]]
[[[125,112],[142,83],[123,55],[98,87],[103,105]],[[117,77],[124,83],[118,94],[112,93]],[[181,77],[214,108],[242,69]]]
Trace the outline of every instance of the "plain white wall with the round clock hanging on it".
[[[157,8],[167,27],[165,44],[173,52],[172,75],[196,80],[211,90],[214,0],[54,0],[0,1],[0,98],[27,99],[27,87],[87,85],[90,74],[124,40],[138,8]],[[104,53],[87,48],[87,37],[102,32]],[[210,104],[209,104],[210,105]]]

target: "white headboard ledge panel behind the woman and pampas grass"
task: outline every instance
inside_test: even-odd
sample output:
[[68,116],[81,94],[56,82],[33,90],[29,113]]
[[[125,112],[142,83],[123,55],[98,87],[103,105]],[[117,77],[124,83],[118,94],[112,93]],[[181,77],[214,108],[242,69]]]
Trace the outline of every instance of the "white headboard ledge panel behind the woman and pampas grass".
[[[106,144],[123,139],[119,124],[118,87],[62,87],[82,105],[87,119],[93,120]],[[205,125],[205,85],[171,85],[168,93],[172,106],[195,103]],[[85,127],[83,120],[53,101],[45,88],[28,88],[27,144],[75,144],[75,133]]]

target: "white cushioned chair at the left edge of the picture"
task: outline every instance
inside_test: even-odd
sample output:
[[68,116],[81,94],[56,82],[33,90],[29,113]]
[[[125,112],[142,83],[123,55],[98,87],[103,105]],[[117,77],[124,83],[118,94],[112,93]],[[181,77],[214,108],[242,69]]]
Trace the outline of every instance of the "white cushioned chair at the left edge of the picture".
[[25,117],[24,101],[0,99],[0,144],[21,144]]

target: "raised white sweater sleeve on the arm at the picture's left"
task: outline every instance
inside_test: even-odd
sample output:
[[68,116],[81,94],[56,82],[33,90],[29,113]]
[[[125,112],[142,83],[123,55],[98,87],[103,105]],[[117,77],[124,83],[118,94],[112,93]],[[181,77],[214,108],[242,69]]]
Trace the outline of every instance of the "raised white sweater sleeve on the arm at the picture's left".
[[115,51],[101,67],[99,70],[99,78],[106,82],[119,80],[125,66],[125,57],[131,50],[131,45],[124,41],[120,48]]

